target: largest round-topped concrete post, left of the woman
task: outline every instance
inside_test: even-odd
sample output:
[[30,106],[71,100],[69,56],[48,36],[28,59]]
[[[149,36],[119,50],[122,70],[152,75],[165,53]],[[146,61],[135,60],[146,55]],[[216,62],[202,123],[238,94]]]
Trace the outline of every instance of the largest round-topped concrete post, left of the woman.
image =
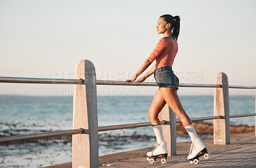
[[76,65],[74,85],[73,129],[83,128],[84,134],[72,136],[72,167],[99,167],[96,75],[93,63],[82,60]]

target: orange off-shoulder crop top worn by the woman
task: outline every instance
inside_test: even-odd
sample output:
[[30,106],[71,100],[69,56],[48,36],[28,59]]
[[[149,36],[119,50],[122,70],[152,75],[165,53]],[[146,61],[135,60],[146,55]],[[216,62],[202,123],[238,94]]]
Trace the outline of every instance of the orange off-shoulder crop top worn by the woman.
[[159,66],[172,66],[177,52],[177,42],[163,42],[159,40],[156,48],[151,52],[147,59],[150,63],[156,59],[156,65]]

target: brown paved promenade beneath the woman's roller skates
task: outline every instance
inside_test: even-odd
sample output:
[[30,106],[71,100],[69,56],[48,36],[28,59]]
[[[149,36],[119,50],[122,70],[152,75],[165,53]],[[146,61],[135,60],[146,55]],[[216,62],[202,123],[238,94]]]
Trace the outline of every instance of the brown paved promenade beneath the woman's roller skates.
[[[159,160],[150,164],[145,153],[152,148],[138,149],[113,155],[99,157],[100,167],[256,167],[256,137],[255,133],[231,134],[230,144],[214,145],[213,138],[203,139],[211,156],[208,160],[200,157],[197,165],[186,160],[191,142],[177,144],[177,156],[168,157],[167,164]],[[54,165],[51,167],[72,167],[72,163]]]

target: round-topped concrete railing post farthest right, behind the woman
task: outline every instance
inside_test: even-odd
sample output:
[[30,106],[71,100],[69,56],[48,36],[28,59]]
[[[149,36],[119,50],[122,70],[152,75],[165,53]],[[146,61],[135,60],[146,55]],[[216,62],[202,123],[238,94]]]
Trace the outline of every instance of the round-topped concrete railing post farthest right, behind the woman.
[[214,119],[214,144],[230,144],[227,75],[223,72],[218,73],[215,76],[214,84],[220,84],[222,86],[221,88],[214,88],[214,116],[221,116],[221,119]]

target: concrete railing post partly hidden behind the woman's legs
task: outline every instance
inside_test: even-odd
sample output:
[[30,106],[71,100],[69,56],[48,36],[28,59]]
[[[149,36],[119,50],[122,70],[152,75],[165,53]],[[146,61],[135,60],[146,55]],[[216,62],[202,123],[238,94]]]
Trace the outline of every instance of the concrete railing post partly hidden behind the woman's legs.
[[175,156],[176,153],[176,116],[172,109],[166,105],[164,105],[162,111],[159,113],[159,119],[165,120],[166,125],[162,125],[163,127],[163,135],[164,141],[167,142],[168,155]]

